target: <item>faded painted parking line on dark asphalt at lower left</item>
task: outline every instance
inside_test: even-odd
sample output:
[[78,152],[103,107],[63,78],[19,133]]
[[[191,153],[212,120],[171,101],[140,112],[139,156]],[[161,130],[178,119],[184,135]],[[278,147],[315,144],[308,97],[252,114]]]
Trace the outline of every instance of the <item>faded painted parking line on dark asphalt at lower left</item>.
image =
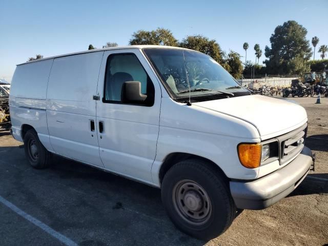
[[28,220],[31,223],[33,223],[38,228],[44,230],[46,233],[50,234],[54,238],[57,238],[59,241],[63,242],[65,245],[68,245],[68,246],[77,246],[77,243],[75,243],[71,239],[65,237],[63,234],[60,234],[59,232],[56,232],[52,228],[48,227],[45,223],[37,220],[36,218],[34,218],[33,216],[31,216],[31,215],[29,215],[27,213],[25,213],[23,210],[20,210],[14,204],[12,204],[10,201],[6,200],[2,196],[0,196],[0,202],[2,204],[4,204],[7,208],[9,208],[12,211],[14,211],[16,214],[22,216],[26,220]]

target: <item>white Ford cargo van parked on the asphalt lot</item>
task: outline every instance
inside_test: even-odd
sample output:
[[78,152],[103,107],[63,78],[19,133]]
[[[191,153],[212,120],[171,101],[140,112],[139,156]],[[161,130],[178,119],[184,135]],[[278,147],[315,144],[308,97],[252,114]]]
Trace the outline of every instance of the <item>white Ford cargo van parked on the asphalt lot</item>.
[[314,165],[302,107],[252,94],[188,49],[114,47],[20,64],[10,112],[32,167],[46,168],[53,153],[161,188],[176,227],[201,239],[227,230],[237,209],[287,196]]

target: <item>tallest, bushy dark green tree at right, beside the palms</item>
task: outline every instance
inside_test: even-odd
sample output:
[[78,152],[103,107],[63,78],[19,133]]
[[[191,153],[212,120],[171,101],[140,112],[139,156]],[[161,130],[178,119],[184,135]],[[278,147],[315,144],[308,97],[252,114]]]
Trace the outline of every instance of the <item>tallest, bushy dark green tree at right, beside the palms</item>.
[[264,61],[271,74],[303,74],[310,71],[308,60],[312,56],[308,31],[294,20],[277,26],[270,37],[271,48],[265,47]]

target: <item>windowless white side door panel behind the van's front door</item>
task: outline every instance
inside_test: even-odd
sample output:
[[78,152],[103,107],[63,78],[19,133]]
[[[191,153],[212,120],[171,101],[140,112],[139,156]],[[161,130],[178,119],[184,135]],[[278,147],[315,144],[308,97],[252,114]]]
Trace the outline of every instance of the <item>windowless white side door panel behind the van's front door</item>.
[[93,95],[103,53],[55,58],[47,92],[48,128],[55,152],[101,167]]

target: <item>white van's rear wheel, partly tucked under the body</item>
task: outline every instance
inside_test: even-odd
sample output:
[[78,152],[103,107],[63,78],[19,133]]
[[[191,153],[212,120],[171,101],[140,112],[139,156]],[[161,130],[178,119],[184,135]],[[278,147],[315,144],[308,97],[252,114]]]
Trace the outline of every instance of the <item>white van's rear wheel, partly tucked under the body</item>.
[[51,153],[42,145],[33,129],[25,133],[24,149],[25,156],[33,168],[44,169],[49,167]]

